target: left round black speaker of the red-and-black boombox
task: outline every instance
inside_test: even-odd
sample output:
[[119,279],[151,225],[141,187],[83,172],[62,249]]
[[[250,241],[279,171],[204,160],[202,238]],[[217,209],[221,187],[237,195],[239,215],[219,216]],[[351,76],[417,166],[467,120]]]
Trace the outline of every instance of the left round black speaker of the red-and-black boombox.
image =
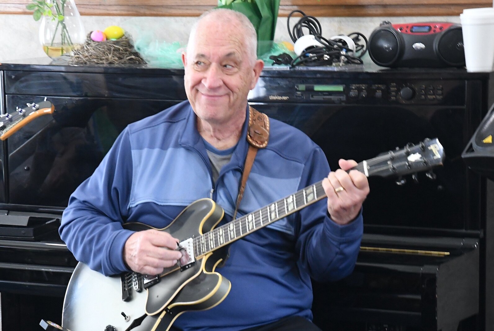
[[399,44],[396,36],[389,30],[379,30],[372,34],[369,41],[369,55],[378,65],[391,65],[396,61]]

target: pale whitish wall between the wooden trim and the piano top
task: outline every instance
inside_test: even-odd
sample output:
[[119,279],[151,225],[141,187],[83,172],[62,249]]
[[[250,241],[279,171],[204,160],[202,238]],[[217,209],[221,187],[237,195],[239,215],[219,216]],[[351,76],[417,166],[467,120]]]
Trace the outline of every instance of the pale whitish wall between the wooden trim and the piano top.
[[[192,22],[196,17],[128,17],[128,16],[82,16],[86,32],[103,30],[109,25],[118,25],[130,33],[134,40],[147,37],[156,42],[186,42]],[[459,16],[436,17],[322,17],[323,37],[330,38],[338,34],[360,32],[369,38],[373,29],[383,20],[392,23],[412,22],[455,22]],[[297,21],[290,19],[290,25]],[[0,62],[32,57],[46,56],[39,41],[40,21],[35,22],[31,15],[0,15]],[[288,37],[287,18],[279,17],[276,41],[290,41]]]

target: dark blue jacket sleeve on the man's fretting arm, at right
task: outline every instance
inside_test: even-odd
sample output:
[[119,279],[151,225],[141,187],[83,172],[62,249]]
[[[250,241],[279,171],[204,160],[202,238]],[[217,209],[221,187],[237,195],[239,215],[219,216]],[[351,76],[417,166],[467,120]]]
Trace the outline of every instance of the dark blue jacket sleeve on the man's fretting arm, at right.
[[[300,181],[300,189],[327,177],[324,152],[315,148]],[[298,213],[296,252],[310,276],[320,282],[348,276],[355,266],[363,234],[362,210],[355,220],[339,225],[329,218],[328,200],[322,199]]]

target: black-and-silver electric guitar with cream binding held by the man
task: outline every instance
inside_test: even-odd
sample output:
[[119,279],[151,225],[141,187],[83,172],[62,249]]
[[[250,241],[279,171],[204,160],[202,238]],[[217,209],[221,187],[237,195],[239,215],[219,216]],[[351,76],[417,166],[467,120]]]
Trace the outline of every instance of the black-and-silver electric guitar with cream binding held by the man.
[[[363,161],[354,169],[368,177],[401,176],[429,170],[443,160],[439,141],[426,139]],[[325,197],[320,181],[219,227],[215,226],[223,209],[210,199],[197,200],[158,229],[180,240],[183,255],[162,274],[105,277],[79,262],[65,294],[62,326],[70,331],[167,331],[183,312],[212,308],[227,296],[231,284],[215,271],[226,258],[226,245]],[[124,228],[152,229],[142,223],[127,223]]]

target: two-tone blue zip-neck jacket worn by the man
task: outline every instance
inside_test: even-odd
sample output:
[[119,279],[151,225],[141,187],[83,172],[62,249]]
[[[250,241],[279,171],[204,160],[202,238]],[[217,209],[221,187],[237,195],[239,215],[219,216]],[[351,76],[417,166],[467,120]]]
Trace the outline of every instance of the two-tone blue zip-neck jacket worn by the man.
[[[247,112],[247,110],[246,110]],[[248,116],[248,113],[247,113]],[[123,248],[132,234],[125,222],[156,228],[201,198],[223,207],[222,223],[235,210],[248,143],[242,139],[216,183],[196,116],[187,101],[128,125],[93,175],[72,194],[60,236],[74,256],[105,275],[128,271]],[[258,151],[239,216],[320,181],[329,165],[320,147],[300,130],[270,119],[267,148]],[[312,319],[310,277],[340,279],[355,265],[363,232],[362,214],[334,223],[326,199],[268,225],[230,246],[217,268],[232,283],[216,307],[182,314],[183,330],[241,330],[299,315]]]

